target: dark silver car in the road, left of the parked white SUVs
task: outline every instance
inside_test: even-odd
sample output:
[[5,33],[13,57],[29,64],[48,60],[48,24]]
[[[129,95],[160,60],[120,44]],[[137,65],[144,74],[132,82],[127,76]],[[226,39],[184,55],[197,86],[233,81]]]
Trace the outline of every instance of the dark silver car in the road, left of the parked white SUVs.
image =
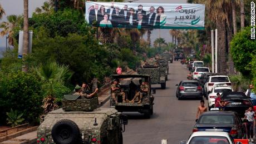
[[202,87],[196,80],[184,80],[180,81],[176,90],[176,97],[178,100],[185,97],[195,97],[203,99]]

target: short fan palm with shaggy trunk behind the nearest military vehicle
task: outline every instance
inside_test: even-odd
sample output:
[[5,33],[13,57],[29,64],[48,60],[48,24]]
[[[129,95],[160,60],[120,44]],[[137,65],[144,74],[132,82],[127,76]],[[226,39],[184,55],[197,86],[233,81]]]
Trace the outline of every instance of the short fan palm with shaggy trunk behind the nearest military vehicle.
[[36,69],[38,76],[45,83],[43,88],[47,91],[47,96],[43,99],[43,109],[45,113],[55,110],[58,105],[56,103],[53,87],[55,85],[63,85],[70,80],[73,73],[70,72],[69,66],[58,64],[56,61],[48,61]]

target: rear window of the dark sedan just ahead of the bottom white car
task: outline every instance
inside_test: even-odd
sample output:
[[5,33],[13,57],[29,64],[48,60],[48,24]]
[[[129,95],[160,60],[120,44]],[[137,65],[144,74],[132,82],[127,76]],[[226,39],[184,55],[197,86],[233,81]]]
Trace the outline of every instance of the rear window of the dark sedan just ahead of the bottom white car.
[[198,124],[233,124],[232,115],[203,115],[199,118]]

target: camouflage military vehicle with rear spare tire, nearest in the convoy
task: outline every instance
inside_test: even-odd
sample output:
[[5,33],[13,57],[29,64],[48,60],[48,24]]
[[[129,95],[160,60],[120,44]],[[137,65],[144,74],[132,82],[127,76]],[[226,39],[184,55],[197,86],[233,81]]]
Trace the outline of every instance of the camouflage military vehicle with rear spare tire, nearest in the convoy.
[[65,95],[62,108],[48,113],[37,128],[37,143],[122,144],[127,116],[115,108],[97,108],[97,97]]

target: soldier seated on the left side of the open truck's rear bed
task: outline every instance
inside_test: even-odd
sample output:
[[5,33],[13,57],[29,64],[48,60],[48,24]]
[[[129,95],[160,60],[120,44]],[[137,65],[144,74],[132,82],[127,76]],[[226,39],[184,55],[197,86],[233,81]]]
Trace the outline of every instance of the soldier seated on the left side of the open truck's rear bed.
[[121,92],[121,87],[117,80],[114,80],[113,84],[111,85],[111,96],[113,101],[117,102],[117,96],[122,96],[122,102],[125,103],[125,93]]

